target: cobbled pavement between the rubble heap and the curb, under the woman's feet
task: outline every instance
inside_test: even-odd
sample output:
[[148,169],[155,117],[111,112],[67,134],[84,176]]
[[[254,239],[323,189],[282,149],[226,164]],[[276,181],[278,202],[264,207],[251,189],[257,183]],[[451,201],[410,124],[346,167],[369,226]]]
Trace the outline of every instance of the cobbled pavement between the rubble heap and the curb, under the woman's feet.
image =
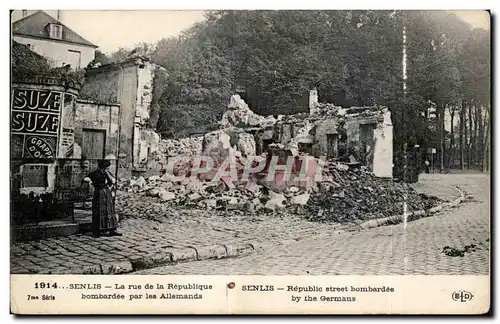
[[112,264],[166,251],[247,243],[264,246],[328,233],[339,226],[308,222],[296,216],[224,217],[216,212],[192,210],[180,211],[176,215],[159,215],[156,219],[161,218],[161,222],[127,218],[120,224],[122,237],[93,238],[89,233],[15,243],[11,247],[11,272],[72,273],[78,267]]

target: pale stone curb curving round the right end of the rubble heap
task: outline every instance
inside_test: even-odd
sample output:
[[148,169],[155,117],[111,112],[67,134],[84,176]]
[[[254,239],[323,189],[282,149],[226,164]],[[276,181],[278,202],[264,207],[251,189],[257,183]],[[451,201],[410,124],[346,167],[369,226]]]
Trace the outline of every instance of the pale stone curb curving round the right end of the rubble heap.
[[[440,205],[429,208],[428,210],[422,209],[422,210],[409,212],[406,215],[407,221],[416,220],[416,219],[413,219],[412,216],[423,216],[423,217],[418,218],[418,219],[420,219],[420,218],[424,218],[424,217],[429,217],[430,215],[438,213],[442,210],[448,210],[450,208],[458,207],[458,205],[460,205],[465,200],[465,194],[459,187],[455,187],[455,189],[460,193],[460,197],[456,198],[452,202],[444,202]],[[404,222],[404,218],[405,218],[405,215],[402,214],[402,215],[395,215],[395,216],[389,216],[389,217],[384,217],[384,218],[371,219],[369,221],[361,223],[359,226],[362,229],[370,229],[370,228],[375,228],[375,227],[385,226],[385,225],[396,225],[396,224]]]

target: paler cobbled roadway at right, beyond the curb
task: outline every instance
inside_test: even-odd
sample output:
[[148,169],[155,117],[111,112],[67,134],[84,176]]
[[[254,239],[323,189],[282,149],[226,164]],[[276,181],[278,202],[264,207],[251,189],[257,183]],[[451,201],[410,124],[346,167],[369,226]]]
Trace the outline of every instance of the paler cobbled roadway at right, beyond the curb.
[[[191,262],[136,272],[136,274],[207,275],[389,275],[389,274],[488,274],[489,177],[424,175],[422,183],[434,184],[444,195],[459,186],[471,196],[458,209],[407,224],[383,226],[361,232],[308,237],[239,259]],[[447,189],[445,189],[447,190]],[[463,257],[447,256],[446,246],[477,246]]]

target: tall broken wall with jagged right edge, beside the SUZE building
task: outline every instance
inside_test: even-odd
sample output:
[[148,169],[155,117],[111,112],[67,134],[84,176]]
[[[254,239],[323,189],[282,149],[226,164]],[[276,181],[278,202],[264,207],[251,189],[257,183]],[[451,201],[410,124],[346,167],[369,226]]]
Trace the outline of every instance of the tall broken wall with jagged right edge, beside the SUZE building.
[[164,69],[145,57],[133,57],[88,69],[82,99],[119,104],[118,176],[158,171],[165,164],[160,136],[147,127],[157,74]]

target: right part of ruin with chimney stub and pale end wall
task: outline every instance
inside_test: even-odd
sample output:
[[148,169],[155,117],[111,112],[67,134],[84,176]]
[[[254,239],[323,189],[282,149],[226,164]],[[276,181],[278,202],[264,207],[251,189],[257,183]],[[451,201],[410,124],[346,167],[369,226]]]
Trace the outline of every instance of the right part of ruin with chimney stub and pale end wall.
[[392,178],[393,127],[387,107],[320,103],[316,90],[309,98],[309,114],[284,116],[276,124],[274,140],[315,157],[354,158],[376,176]]

